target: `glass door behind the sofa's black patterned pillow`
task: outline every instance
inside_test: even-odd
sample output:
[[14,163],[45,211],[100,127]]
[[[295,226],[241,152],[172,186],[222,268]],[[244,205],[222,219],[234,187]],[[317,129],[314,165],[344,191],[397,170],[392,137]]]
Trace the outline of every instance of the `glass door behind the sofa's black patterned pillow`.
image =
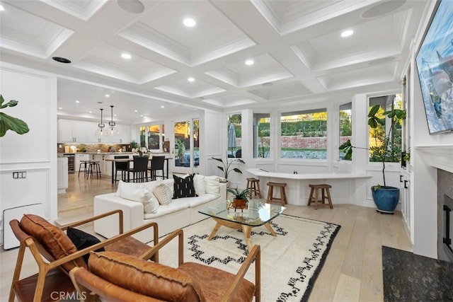
[[200,165],[200,120],[187,120],[174,124],[176,173],[193,173]]

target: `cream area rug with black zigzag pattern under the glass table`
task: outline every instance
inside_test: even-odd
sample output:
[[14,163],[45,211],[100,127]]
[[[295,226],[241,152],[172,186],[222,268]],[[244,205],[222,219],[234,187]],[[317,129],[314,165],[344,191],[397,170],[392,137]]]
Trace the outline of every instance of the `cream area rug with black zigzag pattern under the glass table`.
[[[340,226],[280,215],[271,222],[277,237],[264,226],[252,229],[253,245],[261,248],[261,300],[306,301]],[[206,219],[184,231],[184,261],[205,263],[236,274],[248,255],[243,233],[222,226],[207,240],[215,222]],[[176,240],[159,252],[161,263],[176,266]],[[246,279],[255,280],[252,266]]]

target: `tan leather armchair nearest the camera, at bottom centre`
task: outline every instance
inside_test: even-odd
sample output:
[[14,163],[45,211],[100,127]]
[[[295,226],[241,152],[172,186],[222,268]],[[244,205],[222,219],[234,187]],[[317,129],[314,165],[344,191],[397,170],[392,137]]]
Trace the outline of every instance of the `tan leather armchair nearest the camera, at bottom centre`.
[[[173,231],[149,255],[178,237],[178,267],[115,252],[91,252],[88,268],[69,272],[82,301],[96,294],[106,301],[260,301],[260,246],[254,245],[236,274],[183,262],[183,230]],[[244,279],[255,262],[255,284]],[[86,298],[86,299],[85,299]],[[85,300],[84,300],[85,299]]]

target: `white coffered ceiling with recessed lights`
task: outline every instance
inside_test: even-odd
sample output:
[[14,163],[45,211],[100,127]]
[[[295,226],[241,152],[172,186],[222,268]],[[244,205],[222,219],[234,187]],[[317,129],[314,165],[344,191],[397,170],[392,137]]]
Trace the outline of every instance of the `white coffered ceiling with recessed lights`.
[[[398,88],[432,9],[428,0],[0,4],[1,60],[58,74],[59,116],[96,120],[99,108],[115,105],[115,120],[125,123]],[[341,37],[345,30],[352,35]]]

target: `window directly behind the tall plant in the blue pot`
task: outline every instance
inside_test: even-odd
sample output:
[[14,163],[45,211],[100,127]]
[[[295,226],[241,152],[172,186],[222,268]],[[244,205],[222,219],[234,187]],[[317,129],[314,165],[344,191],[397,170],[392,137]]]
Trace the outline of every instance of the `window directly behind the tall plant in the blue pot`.
[[[374,105],[380,105],[381,108],[378,112],[378,117],[384,118],[384,112],[387,110],[392,109],[403,109],[403,100],[401,94],[393,94],[393,95],[384,95],[374,98],[369,98],[369,109],[372,108]],[[385,134],[388,134],[390,128],[390,122],[388,118],[385,120],[385,124],[377,128],[378,135],[377,137],[382,137]],[[369,147],[372,148],[373,146],[381,146],[382,141],[374,140],[374,129],[369,127]],[[388,163],[397,163],[401,159],[401,123],[396,124],[394,127],[394,132],[391,133],[391,140],[395,142],[395,144],[391,144],[391,152],[389,152],[389,156],[386,158],[386,162]],[[369,150],[369,161],[370,162],[379,162],[379,158],[373,155],[373,151]]]

